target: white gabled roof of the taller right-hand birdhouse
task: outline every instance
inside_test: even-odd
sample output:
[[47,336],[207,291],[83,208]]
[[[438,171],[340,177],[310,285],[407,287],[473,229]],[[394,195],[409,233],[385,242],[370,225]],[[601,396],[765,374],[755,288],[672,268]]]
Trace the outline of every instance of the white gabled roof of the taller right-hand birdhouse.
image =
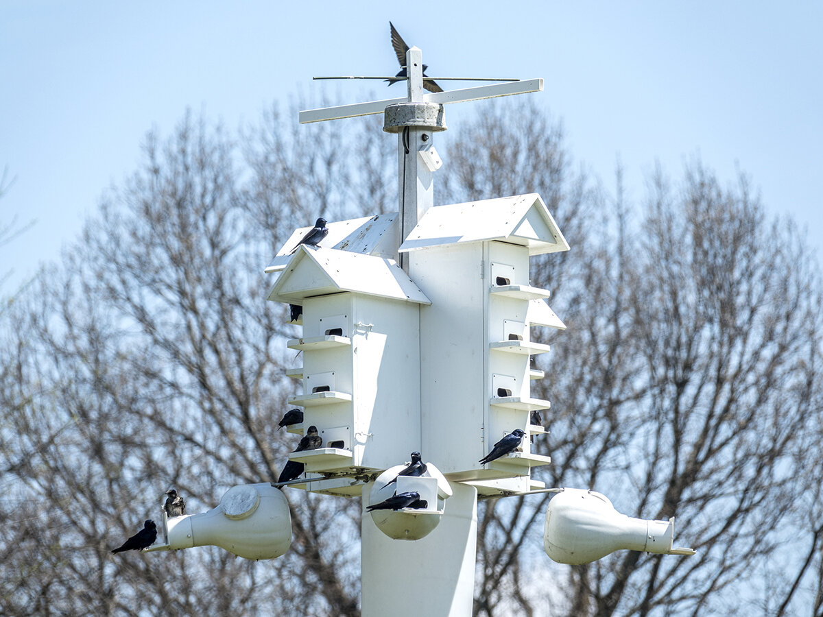
[[528,193],[431,207],[401,244],[400,252],[488,240],[520,244],[528,247],[529,255],[569,250],[540,195]]

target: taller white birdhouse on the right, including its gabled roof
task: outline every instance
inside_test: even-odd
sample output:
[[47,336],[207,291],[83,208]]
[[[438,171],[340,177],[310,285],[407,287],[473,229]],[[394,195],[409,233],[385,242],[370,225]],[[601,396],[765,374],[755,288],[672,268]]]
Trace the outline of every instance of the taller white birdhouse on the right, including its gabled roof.
[[[529,257],[566,251],[563,234],[536,193],[430,208],[407,235],[409,274],[430,299],[421,306],[421,452],[449,480],[500,487],[550,462],[530,451],[478,461],[505,434],[530,424],[549,401],[532,398],[534,326],[565,327],[546,304],[549,290],[529,282]],[[509,488],[509,487],[507,487]]]

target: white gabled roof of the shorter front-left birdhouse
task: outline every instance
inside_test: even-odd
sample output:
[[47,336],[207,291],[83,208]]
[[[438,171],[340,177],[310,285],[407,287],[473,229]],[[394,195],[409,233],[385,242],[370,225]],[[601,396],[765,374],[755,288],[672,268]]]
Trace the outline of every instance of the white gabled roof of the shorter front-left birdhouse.
[[305,245],[283,268],[268,299],[302,304],[305,298],[341,291],[431,304],[393,259]]

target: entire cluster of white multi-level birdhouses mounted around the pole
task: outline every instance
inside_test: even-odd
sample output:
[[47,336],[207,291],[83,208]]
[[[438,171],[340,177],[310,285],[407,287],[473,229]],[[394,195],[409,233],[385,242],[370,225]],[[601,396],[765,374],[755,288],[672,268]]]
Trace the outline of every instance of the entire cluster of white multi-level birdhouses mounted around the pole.
[[[449,480],[481,493],[528,490],[532,466],[550,462],[521,451],[487,465],[478,461],[514,429],[540,434],[532,411],[548,401],[530,396],[532,326],[564,327],[529,285],[529,257],[568,250],[535,194],[435,206],[400,246],[408,274],[388,258],[384,236],[396,237],[392,216],[329,225],[318,248],[291,248],[295,230],[268,271],[278,278],[269,299],[302,305],[302,351],[290,370],[323,448],[293,452],[306,471],[351,475],[384,470],[420,450]],[[334,247],[334,248],[331,248]],[[380,252],[382,256],[372,254]],[[345,482],[309,486],[354,494]]]

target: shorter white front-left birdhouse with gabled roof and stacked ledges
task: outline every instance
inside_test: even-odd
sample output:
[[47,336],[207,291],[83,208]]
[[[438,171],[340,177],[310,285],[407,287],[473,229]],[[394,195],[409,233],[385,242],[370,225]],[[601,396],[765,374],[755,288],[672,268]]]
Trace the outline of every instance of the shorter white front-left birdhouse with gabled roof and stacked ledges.
[[[396,262],[300,246],[268,299],[303,307],[303,336],[288,341],[302,352],[302,364],[289,373],[302,393],[288,404],[303,407],[303,424],[317,426],[323,438],[322,448],[292,452],[291,460],[307,473],[344,476],[382,471],[398,452],[419,448],[419,311],[429,299]],[[350,486],[346,480],[321,488],[359,494]]]

